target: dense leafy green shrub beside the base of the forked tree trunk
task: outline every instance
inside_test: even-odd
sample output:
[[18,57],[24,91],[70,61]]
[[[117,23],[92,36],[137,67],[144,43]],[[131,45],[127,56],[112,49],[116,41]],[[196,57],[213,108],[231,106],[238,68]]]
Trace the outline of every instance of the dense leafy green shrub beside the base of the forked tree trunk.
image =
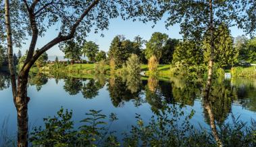
[[34,127],[30,134],[30,142],[34,146],[70,146],[75,145],[76,131],[72,130],[74,122],[71,121],[72,111],[61,108],[57,116],[44,119],[45,129]]

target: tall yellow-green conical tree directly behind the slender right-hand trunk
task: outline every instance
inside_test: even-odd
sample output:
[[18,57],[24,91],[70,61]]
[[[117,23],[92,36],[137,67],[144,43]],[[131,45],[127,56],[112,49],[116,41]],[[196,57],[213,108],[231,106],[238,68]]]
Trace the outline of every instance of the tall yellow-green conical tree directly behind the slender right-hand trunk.
[[[211,45],[208,36],[209,34],[207,34],[207,37],[203,42],[205,48],[205,64],[207,64],[209,61],[209,55],[211,50]],[[238,50],[233,47],[233,39],[230,34],[230,30],[228,30],[226,24],[221,24],[220,26],[218,26],[217,30],[215,31],[214,38],[215,63],[220,65],[220,67],[222,68],[232,67],[234,63],[237,63],[238,61]]]

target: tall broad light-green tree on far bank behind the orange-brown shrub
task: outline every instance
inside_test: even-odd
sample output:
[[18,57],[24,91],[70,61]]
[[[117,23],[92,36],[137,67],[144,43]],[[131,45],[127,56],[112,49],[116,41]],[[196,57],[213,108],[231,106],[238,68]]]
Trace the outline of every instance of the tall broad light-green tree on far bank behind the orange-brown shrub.
[[151,56],[155,55],[155,57],[157,57],[157,62],[159,63],[167,40],[167,34],[162,34],[161,32],[154,32],[149,42],[146,43],[146,58],[149,59]]

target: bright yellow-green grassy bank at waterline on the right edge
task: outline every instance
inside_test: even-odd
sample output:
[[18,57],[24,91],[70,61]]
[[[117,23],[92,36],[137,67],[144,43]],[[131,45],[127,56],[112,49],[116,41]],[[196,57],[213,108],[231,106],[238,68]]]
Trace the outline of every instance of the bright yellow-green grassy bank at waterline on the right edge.
[[256,78],[256,66],[251,67],[233,67],[230,70],[232,76]]

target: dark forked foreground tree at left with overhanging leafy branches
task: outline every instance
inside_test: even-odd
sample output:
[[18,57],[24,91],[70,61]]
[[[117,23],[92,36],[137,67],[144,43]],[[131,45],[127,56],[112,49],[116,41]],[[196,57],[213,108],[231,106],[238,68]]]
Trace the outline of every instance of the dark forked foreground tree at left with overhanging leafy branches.
[[[24,0],[11,1],[10,3],[9,0],[4,1],[4,9],[0,7],[0,39],[1,44],[7,45],[8,49],[11,85],[18,111],[18,146],[28,146],[28,73],[36,60],[55,45],[59,44],[60,46],[68,47],[70,44],[68,40],[82,42],[83,38],[92,29],[96,33],[99,30],[105,30],[109,26],[109,20],[112,18],[122,16],[124,20],[127,20],[141,16],[141,7],[145,3],[148,2]],[[2,4],[3,2],[1,1]],[[131,9],[132,7],[133,9]],[[5,19],[3,19],[4,16]],[[43,36],[49,28],[55,26],[58,27],[56,29],[59,31],[58,35],[34,54],[37,38]],[[18,76],[16,76],[13,47],[14,45],[21,47],[26,36],[31,37],[30,45],[28,45],[28,55]],[[68,48],[71,49],[70,47]],[[16,77],[18,78],[17,80]],[[18,81],[18,85],[16,81]]]

